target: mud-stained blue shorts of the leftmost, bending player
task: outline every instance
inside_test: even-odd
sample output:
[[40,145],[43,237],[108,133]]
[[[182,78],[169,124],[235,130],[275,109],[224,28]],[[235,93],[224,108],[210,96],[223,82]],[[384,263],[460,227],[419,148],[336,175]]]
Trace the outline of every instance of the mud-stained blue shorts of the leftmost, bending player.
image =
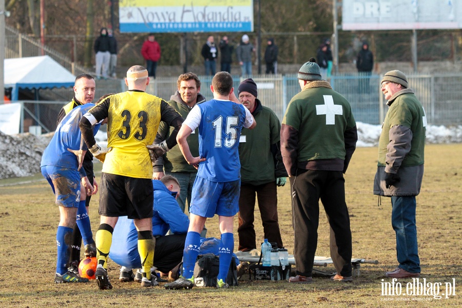
[[42,166],[42,175],[50,183],[57,205],[79,207],[79,171],[55,166]]

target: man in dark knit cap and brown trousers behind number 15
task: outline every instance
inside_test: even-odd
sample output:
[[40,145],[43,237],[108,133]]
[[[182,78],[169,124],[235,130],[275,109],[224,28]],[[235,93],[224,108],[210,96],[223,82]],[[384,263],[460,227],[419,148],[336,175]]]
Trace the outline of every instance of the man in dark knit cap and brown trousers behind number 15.
[[282,248],[278,222],[277,186],[284,186],[285,171],[280,150],[281,124],[273,110],[257,99],[257,85],[246,79],[239,85],[239,101],[254,116],[258,126],[242,129],[239,141],[241,194],[239,196],[239,251],[257,248],[254,229],[255,196],[263,224],[264,238]]

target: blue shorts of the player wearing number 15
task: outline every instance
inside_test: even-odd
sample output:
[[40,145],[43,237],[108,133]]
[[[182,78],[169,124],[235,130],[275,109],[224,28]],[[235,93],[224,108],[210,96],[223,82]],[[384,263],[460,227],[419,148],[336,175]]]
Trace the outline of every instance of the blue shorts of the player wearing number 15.
[[241,180],[212,182],[196,177],[189,213],[201,217],[235,216],[239,211]]

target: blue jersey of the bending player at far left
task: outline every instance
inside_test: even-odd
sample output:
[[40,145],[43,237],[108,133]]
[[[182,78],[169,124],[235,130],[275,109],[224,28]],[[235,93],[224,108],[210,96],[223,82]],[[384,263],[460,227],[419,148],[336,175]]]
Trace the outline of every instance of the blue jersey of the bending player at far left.
[[[66,117],[56,127],[54,136],[43,152],[42,162],[40,166],[55,166],[68,169],[75,169],[79,167],[79,162],[74,153],[69,152],[67,149],[79,150],[81,149],[82,133],[79,128],[80,119],[94,104],[88,103],[72,109]],[[93,134],[98,132],[101,124],[95,124]],[[82,144],[83,149],[86,150],[85,143]]]

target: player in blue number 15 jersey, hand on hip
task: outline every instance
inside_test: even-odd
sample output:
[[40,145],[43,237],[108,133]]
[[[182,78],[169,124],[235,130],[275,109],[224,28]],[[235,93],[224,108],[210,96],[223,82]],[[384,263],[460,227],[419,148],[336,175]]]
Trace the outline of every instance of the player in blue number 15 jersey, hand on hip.
[[[177,135],[188,164],[198,168],[192,186],[189,228],[183,251],[183,276],[165,284],[167,289],[192,288],[194,265],[199,255],[200,232],[205,220],[218,215],[221,232],[217,287],[228,287],[226,276],[234,251],[234,216],[239,211],[241,176],[239,137],[243,127],[257,125],[252,114],[234,94],[233,78],[215,74],[210,90],[214,99],[198,104],[188,114]],[[192,157],[186,138],[199,127],[199,157]]]

